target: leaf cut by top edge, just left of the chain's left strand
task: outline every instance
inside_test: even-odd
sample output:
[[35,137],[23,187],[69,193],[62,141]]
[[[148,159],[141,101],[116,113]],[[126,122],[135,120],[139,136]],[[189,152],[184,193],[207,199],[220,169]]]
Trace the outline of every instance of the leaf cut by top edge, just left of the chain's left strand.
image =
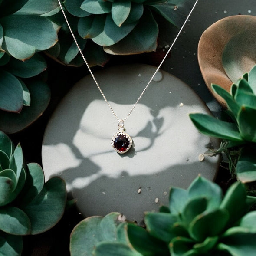
[[18,14],[45,14],[59,7],[57,0],[28,0],[23,7],[18,10]]

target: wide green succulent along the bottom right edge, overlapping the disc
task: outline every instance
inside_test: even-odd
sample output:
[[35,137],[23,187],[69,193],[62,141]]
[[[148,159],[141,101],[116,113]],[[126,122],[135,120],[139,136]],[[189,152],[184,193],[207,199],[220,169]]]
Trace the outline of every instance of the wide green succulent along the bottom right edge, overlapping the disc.
[[256,197],[239,181],[220,187],[197,177],[187,190],[173,187],[169,207],[146,212],[146,228],[120,213],[82,220],[71,234],[71,256],[253,256]]

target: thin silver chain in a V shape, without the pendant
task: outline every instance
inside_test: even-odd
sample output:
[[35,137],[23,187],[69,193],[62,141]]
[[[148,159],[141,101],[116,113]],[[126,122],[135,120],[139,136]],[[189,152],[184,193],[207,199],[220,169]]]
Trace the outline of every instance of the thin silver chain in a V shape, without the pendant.
[[196,2],[194,3],[194,6],[193,6],[192,9],[190,10],[190,13],[188,14],[188,16],[187,16],[186,20],[184,21],[183,25],[181,26],[181,29],[180,29],[179,32],[177,33],[177,36],[175,37],[173,43],[171,44],[170,48],[168,49],[167,53],[165,54],[164,58],[162,59],[161,63],[159,64],[158,68],[156,69],[156,71],[155,71],[154,74],[152,75],[151,79],[149,80],[148,84],[146,85],[146,87],[144,88],[144,90],[141,92],[141,95],[139,96],[139,98],[137,99],[137,101],[135,102],[135,104],[133,105],[133,107],[131,108],[130,112],[128,113],[128,115],[127,115],[124,119],[118,118],[118,116],[115,114],[113,108],[112,108],[111,105],[109,104],[107,98],[105,97],[104,93],[102,92],[102,89],[101,89],[100,86],[98,85],[98,82],[97,82],[97,80],[95,79],[95,76],[93,75],[92,70],[91,70],[91,68],[89,67],[88,62],[87,62],[87,60],[85,59],[85,56],[83,55],[82,50],[81,50],[79,44],[77,43],[77,40],[76,40],[75,35],[74,35],[74,33],[73,33],[72,29],[71,29],[71,26],[69,25],[69,21],[68,21],[68,19],[67,19],[67,16],[66,16],[66,14],[65,14],[64,8],[63,8],[63,6],[62,6],[60,0],[58,0],[58,2],[59,2],[59,6],[60,6],[60,8],[61,8],[61,10],[62,10],[62,13],[63,13],[63,15],[64,15],[64,18],[65,18],[65,20],[66,20],[66,23],[67,23],[67,25],[68,25],[68,27],[69,27],[70,33],[71,33],[72,36],[73,36],[73,39],[74,39],[74,41],[75,41],[75,44],[76,44],[77,48],[79,49],[79,52],[80,52],[80,54],[81,54],[81,56],[82,56],[82,58],[83,58],[83,60],[84,60],[84,62],[85,62],[85,64],[86,64],[86,66],[87,66],[89,72],[91,73],[92,78],[93,78],[95,84],[97,85],[99,91],[101,92],[102,97],[105,99],[105,102],[108,104],[108,107],[110,108],[110,110],[112,111],[113,115],[114,115],[115,118],[118,120],[118,122],[120,122],[120,121],[124,122],[124,121],[129,117],[129,115],[131,115],[131,112],[132,112],[132,111],[134,110],[134,108],[136,107],[136,105],[137,105],[137,103],[139,102],[139,100],[141,99],[142,95],[143,95],[144,92],[147,90],[148,85],[151,83],[151,81],[153,80],[154,76],[156,75],[156,73],[158,72],[158,70],[160,69],[160,67],[162,66],[162,64],[163,64],[164,60],[166,59],[167,55],[170,53],[172,47],[174,46],[174,43],[176,42],[177,38],[180,36],[181,31],[183,30],[185,24],[187,23],[187,20],[189,19],[189,17],[190,17],[190,15],[191,15],[191,13],[193,12],[194,8],[196,7],[198,0],[196,0]]

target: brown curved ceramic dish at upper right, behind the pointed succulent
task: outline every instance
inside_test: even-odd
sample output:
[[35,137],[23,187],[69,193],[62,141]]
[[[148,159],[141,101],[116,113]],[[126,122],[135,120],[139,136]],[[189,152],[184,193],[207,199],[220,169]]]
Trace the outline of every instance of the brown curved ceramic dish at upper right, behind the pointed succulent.
[[[225,66],[226,71],[223,67],[223,51],[229,51],[229,56],[232,58],[230,62],[239,62],[233,66],[236,69],[239,68],[240,74],[249,72],[256,63],[256,56],[249,56],[248,58],[248,51],[246,50],[248,49],[246,44],[250,44],[252,40],[245,39],[243,46],[240,45],[241,40],[236,41],[237,44],[239,44],[238,46],[235,46],[234,42],[229,45],[227,45],[227,43],[229,43],[231,39],[235,39],[235,36],[239,38],[239,34],[241,33],[242,36],[246,31],[249,31],[250,36],[256,36],[255,27],[256,16],[229,16],[211,25],[203,32],[200,38],[198,43],[198,62],[203,79],[210,92],[213,93],[213,96],[223,106],[226,106],[223,98],[213,92],[211,84],[220,85],[227,91],[230,91],[232,82],[236,82],[232,81],[232,74],[229,75],[230,66],[229,68]],[[226,46],[228,46],[229,49],[226,49]],[[231,46],[232,49],[230,49]],[[237,49],[239,49],[238,52]],[[232,53],[230,53],[230,51]],[[255,55],[255,53],[252,53],[252,55]],[[238,56],[240,56],[240,58],[238,58]]]

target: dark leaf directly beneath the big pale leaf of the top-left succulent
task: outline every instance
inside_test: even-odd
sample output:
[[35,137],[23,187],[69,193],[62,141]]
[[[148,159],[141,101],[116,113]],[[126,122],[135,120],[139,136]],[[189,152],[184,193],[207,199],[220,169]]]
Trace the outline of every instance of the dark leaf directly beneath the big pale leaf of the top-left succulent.
[[36,53],[33,57],[27,59],[26,61],[11,58],[6,68],[7,71],[13,75],[21,78],[29,78],[45,71],[47,64],[43,56]]

